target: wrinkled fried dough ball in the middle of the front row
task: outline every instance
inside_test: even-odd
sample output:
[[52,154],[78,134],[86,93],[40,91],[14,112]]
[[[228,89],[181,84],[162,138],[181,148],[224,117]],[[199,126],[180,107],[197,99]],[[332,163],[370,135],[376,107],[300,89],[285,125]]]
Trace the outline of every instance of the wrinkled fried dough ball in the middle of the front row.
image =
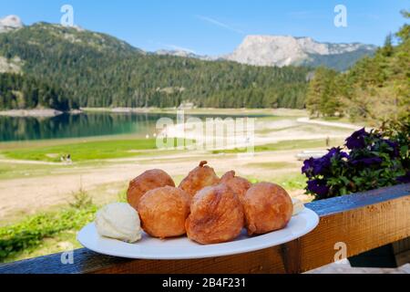
[[241,201],[223,183],[206,187],[194,196],[185,223],[188,237],[201,245],[231,241],[241,234],[243,225]]

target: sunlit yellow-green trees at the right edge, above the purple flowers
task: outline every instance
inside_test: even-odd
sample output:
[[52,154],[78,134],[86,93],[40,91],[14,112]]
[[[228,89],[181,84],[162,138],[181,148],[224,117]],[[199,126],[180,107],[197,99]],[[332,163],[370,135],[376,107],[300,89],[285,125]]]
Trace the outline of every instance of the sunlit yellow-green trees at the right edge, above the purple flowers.
[[[403,12],[410,18],[409,12]],[[345,116],[377,125],[403,120],[410,112],[410,26],[386,37],[374,57],[349,71],[318,68],[311,80],[306,107],[314,117]]]

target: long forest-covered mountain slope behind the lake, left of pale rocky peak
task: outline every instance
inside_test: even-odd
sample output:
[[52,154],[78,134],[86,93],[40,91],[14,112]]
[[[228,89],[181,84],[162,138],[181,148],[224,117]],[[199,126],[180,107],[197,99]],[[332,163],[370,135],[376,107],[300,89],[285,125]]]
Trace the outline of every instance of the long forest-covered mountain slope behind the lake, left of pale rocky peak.
[[[190,101],[198,107],[302,109],[312,71],[150,54],[113,36],[47,23],[0,34],[0,61],[4,71],[15,68],[30,84],[46,83],[70,107],[164,108]],[[0,92],[0,108],[36,104],[11,96]]]

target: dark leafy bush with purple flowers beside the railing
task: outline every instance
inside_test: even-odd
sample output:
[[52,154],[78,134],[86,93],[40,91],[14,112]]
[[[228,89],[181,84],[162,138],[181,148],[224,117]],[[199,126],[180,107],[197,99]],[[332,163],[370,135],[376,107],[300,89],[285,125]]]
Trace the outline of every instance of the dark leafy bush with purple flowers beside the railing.
[[408,130],[355,131],[345,149],[333,148],[322,158],[303,162],[306,191],[315,200],[410,183]]

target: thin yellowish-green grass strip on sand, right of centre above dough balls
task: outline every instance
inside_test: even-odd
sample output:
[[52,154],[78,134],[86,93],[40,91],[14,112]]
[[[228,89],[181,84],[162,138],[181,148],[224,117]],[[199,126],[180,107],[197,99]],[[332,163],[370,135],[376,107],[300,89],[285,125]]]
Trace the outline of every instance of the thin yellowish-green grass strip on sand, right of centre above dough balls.
[[[331,146],[341,145],[343,141],[331,140]],[[265,144],[255,146],[255,152],[263,151],[286,151],[286,150],[305,150],[313,148],[325,148],[326,141],[321,140],[292,140],[292,141],[279,141],[277,143]],[[245,150],[231,149],[231,150],[217,150],[212,151],[213,154],[219,153],[241,153]]]

